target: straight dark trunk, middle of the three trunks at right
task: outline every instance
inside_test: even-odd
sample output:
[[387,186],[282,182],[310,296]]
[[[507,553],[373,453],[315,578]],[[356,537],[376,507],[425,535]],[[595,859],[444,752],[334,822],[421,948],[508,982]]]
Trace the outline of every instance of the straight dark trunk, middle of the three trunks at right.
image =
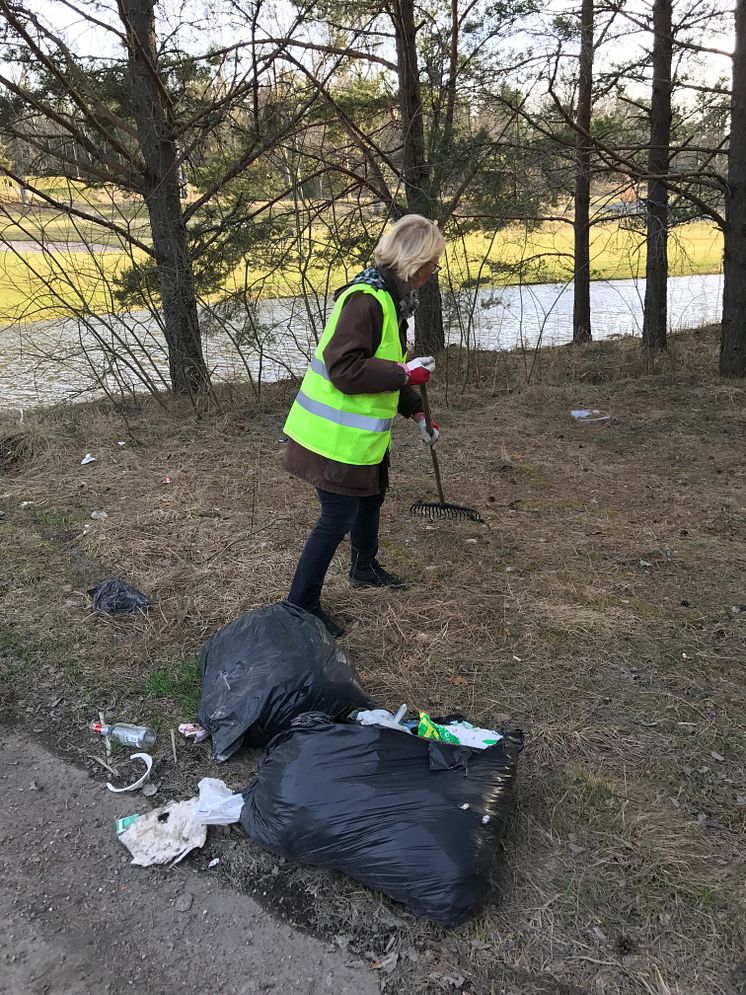
[[648,349],[666,348],[668,326],[668,174],[671,145],[671,4],[653,4],[653,92],[648,151],[647,262],[642,341]]

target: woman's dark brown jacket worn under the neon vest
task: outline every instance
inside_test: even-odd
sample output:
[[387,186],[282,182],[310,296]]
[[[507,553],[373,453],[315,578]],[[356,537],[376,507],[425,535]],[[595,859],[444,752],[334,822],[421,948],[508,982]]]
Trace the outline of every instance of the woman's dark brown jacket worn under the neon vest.
[[[399,301],[410,292],[409,284],[390,269],[381,269],[399,313]],[[406,322],[399,321],[402,349],[406,348]],[[324,349],[324,363],[329,379],[345,394],[378,394],[399,390],[399,414],[411,418],[422,411],[419,392],[404,383],[406,377],[398,363],[376,359],[383,334],[383,310],[371,294],[352,294],[345,301],[334,335]],[[301,480],[322,491],[368,497],[388,487],[388,452],[374,466],[355,466],[319,456],[294,439],[288,439],[285,468]]]

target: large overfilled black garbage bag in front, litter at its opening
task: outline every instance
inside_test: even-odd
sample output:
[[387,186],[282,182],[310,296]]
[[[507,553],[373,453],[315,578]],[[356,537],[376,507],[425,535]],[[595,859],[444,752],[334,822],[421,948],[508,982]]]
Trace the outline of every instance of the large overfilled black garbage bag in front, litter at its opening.
[[457,926],[487,897],[521,746],[520,732],[472,750],[304,715],[265,751],[241,824],[288,860]]

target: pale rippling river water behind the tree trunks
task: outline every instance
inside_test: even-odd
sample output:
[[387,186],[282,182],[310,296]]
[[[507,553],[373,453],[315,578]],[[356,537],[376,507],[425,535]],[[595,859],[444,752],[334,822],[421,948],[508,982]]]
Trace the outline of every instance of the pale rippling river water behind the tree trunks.
[[[669,328],[676,331],[720,320],[723,278],[673,277],[668,281]],[[591,284],[594,339],[640,335],[644,280]],[[444,299],[451,342],[482,349],[531,349],[572,338],[572,285],[556,283],[460,292]],[[205,355],[214,379],[269,382],[301,374],[309,343],[323,324],[320,306],[301,298],[261,301],[242,320],[202,316]],[[115,360],[126,342],[131,358]],[[236,348],[236,343],[243,343]],[[51,404],[118,392],[117,383],[147,379],[167,386],[168,363],[157,317],[149,312],[104,315],[80,322],[38,322],[0,329],[0,408]]]

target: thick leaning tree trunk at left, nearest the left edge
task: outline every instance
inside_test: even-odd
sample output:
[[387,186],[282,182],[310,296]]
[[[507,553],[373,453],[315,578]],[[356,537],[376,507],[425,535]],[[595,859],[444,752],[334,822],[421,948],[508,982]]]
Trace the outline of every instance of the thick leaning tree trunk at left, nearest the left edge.
[[127,29],[132,109],[145,162],[145,203],[156,255],[171,385],[177,394],[196,397],[209,386],[210,378],[202,354],[168,95],[158,77],[154,6],[155,0],[120,0]]

